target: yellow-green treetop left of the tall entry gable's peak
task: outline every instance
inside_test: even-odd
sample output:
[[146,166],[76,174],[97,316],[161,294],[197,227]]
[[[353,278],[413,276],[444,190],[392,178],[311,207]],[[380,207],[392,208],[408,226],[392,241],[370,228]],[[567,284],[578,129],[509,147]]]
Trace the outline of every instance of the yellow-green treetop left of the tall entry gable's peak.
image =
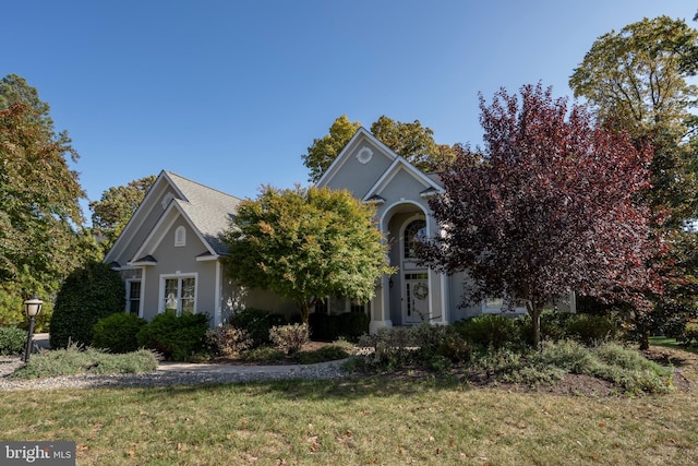
[[323,176],[359,128],[360,122],[352,123],[342,115],[329,127],[329,134],[313,140],[308,154],[302,155],[303,164],[310,169],[310,181],[315,182]]

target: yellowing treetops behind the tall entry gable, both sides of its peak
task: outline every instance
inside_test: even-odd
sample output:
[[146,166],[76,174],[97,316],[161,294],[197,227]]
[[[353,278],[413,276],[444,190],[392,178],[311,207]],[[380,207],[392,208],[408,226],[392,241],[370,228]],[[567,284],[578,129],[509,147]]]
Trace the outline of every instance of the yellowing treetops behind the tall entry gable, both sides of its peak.
[[[350,122],[347,116],[342,115],[332,124],[329,134],[313,140],[313,145],[302,155],[303,164],[310,170],[310,181],[320,180],[359,128],[360,122]],[[371,133],[393,152],[425,172],[440,170],[456,156],[454,147],[436,144],[434,131],[422,127],[419,120],[404,123],[381,116],[371,124]]]

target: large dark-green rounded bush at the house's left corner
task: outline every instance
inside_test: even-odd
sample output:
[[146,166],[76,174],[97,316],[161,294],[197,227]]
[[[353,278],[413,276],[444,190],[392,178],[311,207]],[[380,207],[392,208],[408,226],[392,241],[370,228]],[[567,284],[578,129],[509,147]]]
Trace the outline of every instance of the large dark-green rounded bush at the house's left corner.
[[52,348],[69,343],[92,345],[93,327],[125,309],[124,285],[118,272],[101,262],[74,270],[63,282],[51,315]]

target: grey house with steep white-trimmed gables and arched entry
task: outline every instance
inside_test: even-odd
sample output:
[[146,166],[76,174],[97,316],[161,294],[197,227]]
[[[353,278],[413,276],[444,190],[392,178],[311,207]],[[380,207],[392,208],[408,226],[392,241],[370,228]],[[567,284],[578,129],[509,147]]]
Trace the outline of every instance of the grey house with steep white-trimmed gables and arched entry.
[[[426,175],[360,128],[317,181],[347,189],[376,206],[377,227],[389,243],[397,272],[383,276],[369,303],[328,297],[322,311],[368,312],[370,331],[422,321],[450,323],[481,313],[501,313],[501,299],[460,307],[464,274],[446,275],[421,266],[416,240],[440,231],[429,208],[443,192],[437,175]],[[291,314],[291,302],[276,295],[242,289],[227,277],[220,238],[240,200],[179,175],[163,171],[105,258],[127,284],[127,307],[145,319],[166,309],[206,312],[220,325],[243,307]],[[574,309],[574,301],[571,301]],[[524,313],[524,308],[507,312]]]

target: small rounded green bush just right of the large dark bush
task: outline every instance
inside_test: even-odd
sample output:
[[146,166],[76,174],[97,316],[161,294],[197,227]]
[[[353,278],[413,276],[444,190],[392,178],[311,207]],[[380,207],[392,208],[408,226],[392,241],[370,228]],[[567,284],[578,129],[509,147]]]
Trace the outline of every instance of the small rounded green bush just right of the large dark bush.
[[110,353],[135,351],[139,332],[145,324],[145,319],[125,312],[100,319],[93,328],[93,346]]

